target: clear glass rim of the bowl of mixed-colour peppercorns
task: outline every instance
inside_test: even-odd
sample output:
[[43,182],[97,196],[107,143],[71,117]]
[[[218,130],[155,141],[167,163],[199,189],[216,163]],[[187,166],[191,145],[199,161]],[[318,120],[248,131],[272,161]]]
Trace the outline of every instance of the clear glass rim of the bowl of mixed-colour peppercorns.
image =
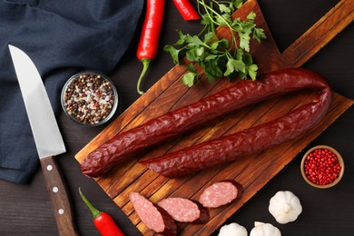
[[[73,80],[75,78],[77,78],[78,76],[80,76],[81,74],[95,74],[95,75],[101,75],[105,80],[107,80],[113,89],[113,94],[114,94],[114,103],[113,103],[113,107],[111,109],[111,112],[107,115],[106,118],[104,118],[102,121],[100,121],[99,123],[81,123],[79,121],[77,121],[76,119],[74,119],[74,117],[72,115],[70,115],[69,113],[67,113],[66,111],[66,107],[65,107],[65,102],[64,102],[64,94],[67,90],[67,87],[73,82]],[[119,103],[119,98],[118,98],[118,91],[115,87],[115,85],[113,84],[113,81],[106,75],[103,74],[101,72],[98,71],[94,71],[94,70],[85,70],[85,71],[81,71],[79,73],[73,74],[64,84],[63,89],[62,89],[62,93],[61,93],[61,104],[62,104],[62,108],[64,110],[64,113],[70,118],[71,121],[73,121],[74,123],[78,123],[80,125],[83,125],[85,127],[95,127],[98,125],[102,125],[103,123],[107,123],[108,121],[110,121],[114,115],[114,113],[116,112],[117,108],[118,108],[118,103]]]

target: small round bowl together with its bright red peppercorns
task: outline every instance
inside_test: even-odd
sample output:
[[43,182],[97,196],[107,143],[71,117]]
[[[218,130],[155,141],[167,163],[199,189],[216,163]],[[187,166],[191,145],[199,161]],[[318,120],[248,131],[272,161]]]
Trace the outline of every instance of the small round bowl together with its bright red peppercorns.
[[311,148],[302,157],[302,177],[311,186],[326,189],[336,185],[344,173],[344,161],[337,150],[327,145]]

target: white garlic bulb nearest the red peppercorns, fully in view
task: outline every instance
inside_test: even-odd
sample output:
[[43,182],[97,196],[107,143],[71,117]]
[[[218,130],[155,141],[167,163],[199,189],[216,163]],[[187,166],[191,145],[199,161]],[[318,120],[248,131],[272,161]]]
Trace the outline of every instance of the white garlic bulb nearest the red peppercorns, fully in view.
[[270,199],[270,214],[279,223],[295,221],[302,211],[300,200],[290,191],[277,192]]

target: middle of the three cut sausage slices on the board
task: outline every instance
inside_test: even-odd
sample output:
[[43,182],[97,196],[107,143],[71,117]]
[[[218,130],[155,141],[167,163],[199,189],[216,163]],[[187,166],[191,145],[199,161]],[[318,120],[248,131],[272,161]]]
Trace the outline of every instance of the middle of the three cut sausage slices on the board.
[[175,221],[205,223],[209,221],[209,210],[201,203],[185,198],[165,198],[157,203]]

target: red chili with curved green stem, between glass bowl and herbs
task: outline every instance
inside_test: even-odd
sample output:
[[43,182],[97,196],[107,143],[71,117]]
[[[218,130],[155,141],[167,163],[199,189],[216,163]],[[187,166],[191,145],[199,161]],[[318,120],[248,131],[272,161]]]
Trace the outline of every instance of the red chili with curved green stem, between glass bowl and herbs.
[[140,89],[143,75],[146,73],[150,62],[157,54],[163,20],[163,7],[164,0],[147,0],[143,31],[136,52],[136,56],[143,63],[143,72],[140,75],[136,86],[136,89],[140,94],[143,94],[143,91]]

